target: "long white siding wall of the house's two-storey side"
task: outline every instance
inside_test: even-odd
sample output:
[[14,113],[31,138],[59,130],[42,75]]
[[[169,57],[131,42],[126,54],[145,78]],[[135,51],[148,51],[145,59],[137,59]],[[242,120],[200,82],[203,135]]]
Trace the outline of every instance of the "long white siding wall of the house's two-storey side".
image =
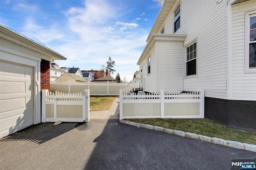
[[[184,90],[205,89],[206,97],[226,99],[227,4],[226,1],[220,2],[220,4],[217,4],[215,0],[195,0],[192,3],[191,0],[180,0],[181,23],[175,34],[187,35],[184,41],[184,50],[194,41],[198,45],[197,75],[184,77],[184,69],[182,75],[184,77]],[[165,34],[174,34],[172,14],[177,4],[178,1],[163,23]],[[178,75],[180,76],[180,74]]]

